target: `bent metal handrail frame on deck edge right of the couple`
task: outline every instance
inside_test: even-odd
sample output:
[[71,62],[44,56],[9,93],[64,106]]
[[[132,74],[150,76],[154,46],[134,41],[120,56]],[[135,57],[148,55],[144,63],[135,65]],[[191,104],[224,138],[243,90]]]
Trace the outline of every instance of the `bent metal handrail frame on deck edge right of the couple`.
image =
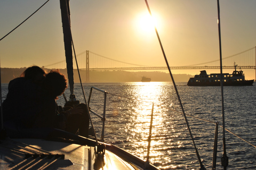
[[[90,108],[90,101],[91,101],[91,96],[92,96],[92,90],[95,89],[95,90],[98,90],[100,92],[103,92],[104,93],[104,106],[103,106],[103,116],[99,115],[98,113],[95,113],[94,111],[92,111],[92,109]],[[91,113],[93,113],[94,115],[98,116],[101,118],[101,121],[102,121],[102,130],[101,130],[101,141],[104,141],[104,131],[105,131],[105,121],[106,121],[106,103],[107,103],[107,94],[108,92],[105,91],[105,90],[101,90],[97,87],[91,87],[91,90],[90,90],[90,95],[89,95],[89,99],[88,99],[88,108],[89,108],[89,111]],[[96,135],[96,134],[95,134]]]

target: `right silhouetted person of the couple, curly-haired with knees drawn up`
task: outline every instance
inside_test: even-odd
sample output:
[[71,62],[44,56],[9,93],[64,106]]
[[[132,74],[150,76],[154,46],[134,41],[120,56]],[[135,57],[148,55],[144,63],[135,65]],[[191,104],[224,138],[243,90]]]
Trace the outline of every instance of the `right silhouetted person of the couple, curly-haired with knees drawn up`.
[[65,75],[58,70],[46,74],[43,85],[42,110],[39,112],[33,125],[34,128],[57,128],[71,133],[88,136],[89,114],[87,106],[79,104],[68,111],[60,112],[56,103],[58,96],[67,88]]

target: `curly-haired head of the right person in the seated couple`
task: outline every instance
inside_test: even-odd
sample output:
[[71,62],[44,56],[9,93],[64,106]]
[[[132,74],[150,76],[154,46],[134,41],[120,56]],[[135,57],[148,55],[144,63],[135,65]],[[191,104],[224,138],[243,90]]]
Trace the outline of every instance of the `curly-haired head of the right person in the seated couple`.
[[58,96],[62,95],[68,88],[67,79],[59,70],[51,70],[50,73],[46,74],[44,86],[47,94],[54,99],[58,99]]

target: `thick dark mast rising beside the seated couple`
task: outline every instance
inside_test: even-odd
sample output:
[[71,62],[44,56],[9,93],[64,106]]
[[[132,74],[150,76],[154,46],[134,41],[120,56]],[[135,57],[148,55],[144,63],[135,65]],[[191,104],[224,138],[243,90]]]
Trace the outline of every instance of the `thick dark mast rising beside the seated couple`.
[[70,96],[74,94],[74,72],[73,72],[73,55],[72,55],[72,36],[70,25],[69,0],[60,0],[62,29],[65,45],[65,55],[67,63],[68,83]]

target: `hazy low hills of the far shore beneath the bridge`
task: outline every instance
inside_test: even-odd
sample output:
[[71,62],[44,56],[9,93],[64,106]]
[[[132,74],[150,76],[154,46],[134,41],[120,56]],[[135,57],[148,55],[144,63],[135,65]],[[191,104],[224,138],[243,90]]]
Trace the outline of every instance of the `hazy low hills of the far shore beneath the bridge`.
[[[27,68],[1,68],[1,81],[2,83],[9,83],[11,80],[20,77],[20,74]],[[45,69],[49,72],[51,69]],[[62,74],[67,77],[67,70],[60,69]],[[86,80],[86,71],[80,71],[82,82]],[[171,77],[169,73],[152,71],[152,72],[131,72],[131,71],[90,71],[89,83],[93,82],[141,82],[141,78],[145,76],[151,78],[152,82],[170,82]],[[189,74],[173,74],[176,82],[187,82]],[[68,77],[67,77],[68,78]],[[79,82],[77,70],[74,70],[74,82]]]

